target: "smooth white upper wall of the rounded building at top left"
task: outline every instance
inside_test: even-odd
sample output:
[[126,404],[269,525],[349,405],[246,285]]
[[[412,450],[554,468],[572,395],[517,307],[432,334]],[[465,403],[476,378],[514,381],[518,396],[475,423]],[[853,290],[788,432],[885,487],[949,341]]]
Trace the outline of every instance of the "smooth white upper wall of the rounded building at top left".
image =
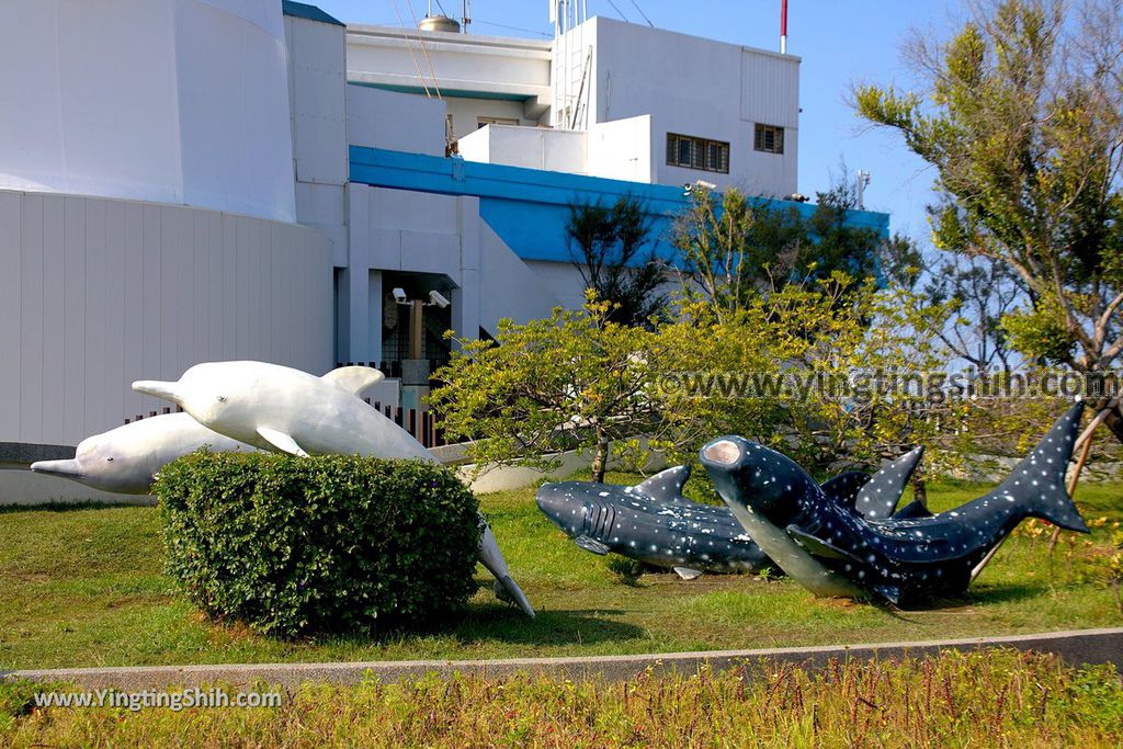
[[280,0],[0,3],[0,189],[294,220]]

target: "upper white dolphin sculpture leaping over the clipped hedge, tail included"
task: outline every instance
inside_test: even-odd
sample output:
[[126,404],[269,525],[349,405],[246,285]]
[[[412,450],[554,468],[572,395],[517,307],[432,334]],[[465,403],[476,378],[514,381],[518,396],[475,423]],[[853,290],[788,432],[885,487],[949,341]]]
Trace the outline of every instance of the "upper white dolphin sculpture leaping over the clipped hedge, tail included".
[[[177,382],[141,380],[133,390],[171,401],[206,427],[265,450],[437,463],[409,432],[358,396],[382,378],[369,367],[340,367],[317,377],[264,362],[208,362]],[[480,520],[480,560],[495,576],[496,594],[533,616],[495,535],[483,515]]]

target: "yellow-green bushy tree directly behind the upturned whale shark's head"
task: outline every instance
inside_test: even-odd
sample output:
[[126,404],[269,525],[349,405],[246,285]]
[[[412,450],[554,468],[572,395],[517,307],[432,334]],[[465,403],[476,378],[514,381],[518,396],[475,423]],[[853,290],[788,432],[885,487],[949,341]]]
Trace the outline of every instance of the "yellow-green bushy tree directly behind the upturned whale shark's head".
[[665,428],[651,445],[691,460],[706,439],[734,432],[821,472],[877,465],[929,441],[932,393],[919,382],[882,386],[875,376],[944,362],[937,337],[944,312],[915,299],[837,272],[750,298],[732,312],[686,308],[658,331],[664,358],[652,364],[688,374],[682,386],[660,389]]

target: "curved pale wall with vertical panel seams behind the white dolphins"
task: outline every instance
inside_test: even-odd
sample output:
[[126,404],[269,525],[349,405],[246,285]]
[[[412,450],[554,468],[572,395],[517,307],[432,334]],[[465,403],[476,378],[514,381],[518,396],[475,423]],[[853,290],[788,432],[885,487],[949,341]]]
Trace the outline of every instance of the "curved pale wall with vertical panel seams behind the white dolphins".
[[177,205],[0,191],[0,441],[74,445],[193,364],[332,365],[331,243]]

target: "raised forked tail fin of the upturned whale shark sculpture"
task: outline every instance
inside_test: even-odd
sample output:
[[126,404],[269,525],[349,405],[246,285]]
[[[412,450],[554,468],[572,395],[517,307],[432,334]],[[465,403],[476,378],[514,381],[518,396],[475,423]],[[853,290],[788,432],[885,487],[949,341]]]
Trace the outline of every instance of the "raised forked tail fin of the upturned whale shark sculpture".
[[1012,497],[1026,515],[1048,520],[1066,530],[1087,533],[1088,527],[1065,486],[1083,411],[1084,403],[1078,402],[1057,419],[1038,446],[1006,477],[997,493]]

